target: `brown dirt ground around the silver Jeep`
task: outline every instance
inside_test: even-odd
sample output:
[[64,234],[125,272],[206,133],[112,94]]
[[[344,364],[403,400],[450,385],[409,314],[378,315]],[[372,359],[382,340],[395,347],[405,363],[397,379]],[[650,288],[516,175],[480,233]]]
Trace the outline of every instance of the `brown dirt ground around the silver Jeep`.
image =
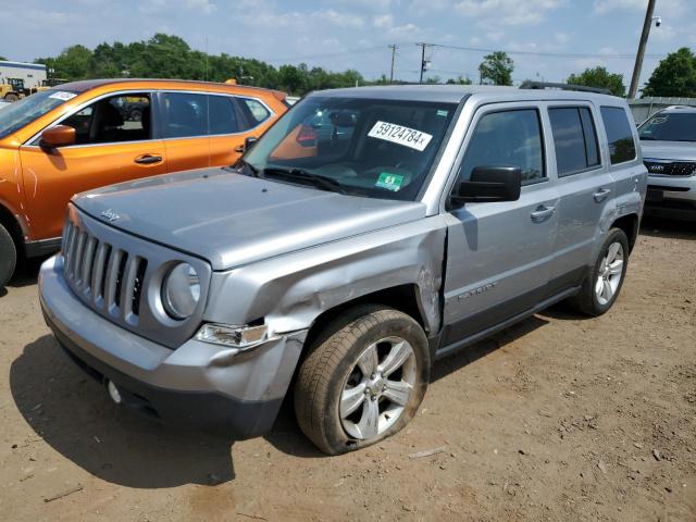
[[646,222],[610,313],[440,361],[405,432],[338,458],[289,408],[240,443],[117,409],[49,335],[37,270],[0,297],[0,520],[696,521],[694,225]]

